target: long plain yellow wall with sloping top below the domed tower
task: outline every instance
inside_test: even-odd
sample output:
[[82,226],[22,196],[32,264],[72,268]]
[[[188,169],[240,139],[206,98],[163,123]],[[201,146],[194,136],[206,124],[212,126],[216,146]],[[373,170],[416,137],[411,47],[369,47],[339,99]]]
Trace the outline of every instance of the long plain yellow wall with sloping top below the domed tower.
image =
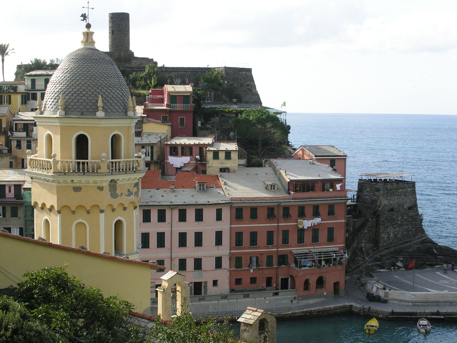
[[0,233],[0,288],[16,286],[26,272],[62,267],[87,286],[100,288],[105,297],[118,295],[135,305],[135,311],[150,314],[151,267],[125,259],[51,246],[28,238]]

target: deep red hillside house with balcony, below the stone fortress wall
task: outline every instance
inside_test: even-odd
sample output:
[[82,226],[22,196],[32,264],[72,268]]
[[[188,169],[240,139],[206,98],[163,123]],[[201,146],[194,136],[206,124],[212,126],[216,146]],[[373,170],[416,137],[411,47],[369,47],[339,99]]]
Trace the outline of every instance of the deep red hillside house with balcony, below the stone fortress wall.
[[162,89],[151,89],[143,104],[147,118],[171,124],[171,138],[193,136],[192,87],[166,84]]

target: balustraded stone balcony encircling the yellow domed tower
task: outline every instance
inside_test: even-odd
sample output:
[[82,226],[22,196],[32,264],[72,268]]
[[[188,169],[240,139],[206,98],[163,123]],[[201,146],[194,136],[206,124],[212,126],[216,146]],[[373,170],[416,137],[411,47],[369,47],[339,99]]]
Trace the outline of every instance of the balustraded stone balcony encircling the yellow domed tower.
[[136,158],[82,160],[82,159],[55,159],[39,158],[30,155],[27,158],[28,170],[42,174],[108,174],[108,173],[135,173],[144,169],[144,156],[141,152]]

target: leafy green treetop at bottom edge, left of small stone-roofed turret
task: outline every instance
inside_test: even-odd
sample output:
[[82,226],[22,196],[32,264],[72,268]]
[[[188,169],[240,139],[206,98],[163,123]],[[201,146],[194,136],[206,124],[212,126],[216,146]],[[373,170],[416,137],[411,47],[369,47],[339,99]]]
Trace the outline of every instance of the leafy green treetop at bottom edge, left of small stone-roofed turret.
[[189,312],[183,312],[164,324],[160,316],[156,317],[151,329],[148,343],[241,343],[234,337],[234,331],[229,323],[215,317],[197,321]]

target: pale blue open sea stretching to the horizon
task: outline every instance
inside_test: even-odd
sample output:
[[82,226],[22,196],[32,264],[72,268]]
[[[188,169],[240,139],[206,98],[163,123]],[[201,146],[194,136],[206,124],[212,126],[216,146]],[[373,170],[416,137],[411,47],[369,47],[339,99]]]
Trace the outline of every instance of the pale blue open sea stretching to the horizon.
[[294,147],[346,153],[348,189],[362,173],[412,174],[426,233],[457,249],[457,116],[288,113],[287,123]]

